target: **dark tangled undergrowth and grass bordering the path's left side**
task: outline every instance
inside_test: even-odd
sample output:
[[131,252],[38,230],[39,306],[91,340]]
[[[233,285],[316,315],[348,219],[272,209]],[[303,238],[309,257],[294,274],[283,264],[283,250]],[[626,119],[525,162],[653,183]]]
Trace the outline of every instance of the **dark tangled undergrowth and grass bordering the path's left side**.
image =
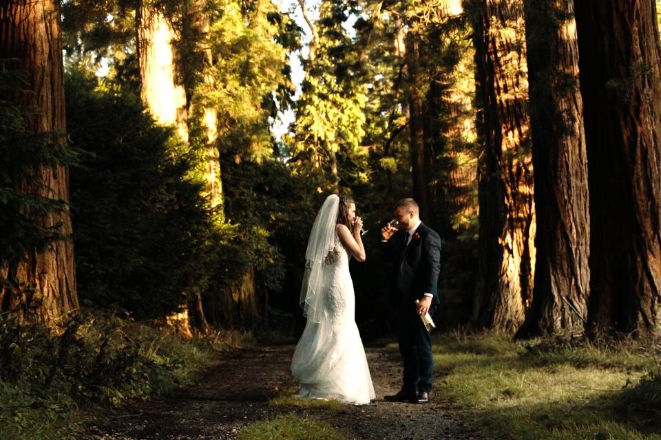
[[182,386],[216,351],[249,343],[239,332],[186,341],[98,312],[54,329],[0,319],[0,439],[75,438],[98,408]]

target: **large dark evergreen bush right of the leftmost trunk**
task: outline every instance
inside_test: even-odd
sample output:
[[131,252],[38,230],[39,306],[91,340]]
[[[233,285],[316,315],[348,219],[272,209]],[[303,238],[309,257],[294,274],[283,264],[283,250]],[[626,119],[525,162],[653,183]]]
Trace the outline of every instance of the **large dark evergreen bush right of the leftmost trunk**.
[[175,311],[231,249],[232,231],[212,223],[189,178],[194,152],[138,96],[81,73],[67,78],[67,123],[92,153],[71,175],[79,296],[136,317]]

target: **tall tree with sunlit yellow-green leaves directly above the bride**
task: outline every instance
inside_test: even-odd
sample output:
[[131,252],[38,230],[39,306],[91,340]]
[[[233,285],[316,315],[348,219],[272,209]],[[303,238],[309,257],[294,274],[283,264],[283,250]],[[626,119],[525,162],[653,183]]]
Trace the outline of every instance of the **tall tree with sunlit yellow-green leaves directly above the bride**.
[[327,176],[328,187],[339,191],[352,179],[340,162],[352,162],[361,153],[365,135],[364,87],[356,81],[355,54],[343,23],[348,10],[343,1],[322,0],[313,22],[299,1],[313,39],[307,60],[303,94],[297,102],[294,158],[297,168],[312,168]]

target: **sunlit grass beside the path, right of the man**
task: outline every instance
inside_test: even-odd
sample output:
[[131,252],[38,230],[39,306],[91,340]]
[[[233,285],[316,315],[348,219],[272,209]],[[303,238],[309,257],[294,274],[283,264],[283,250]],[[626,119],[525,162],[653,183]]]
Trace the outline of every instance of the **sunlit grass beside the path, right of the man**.
[[661,439],[661,379],[653,349],[443,336],[434,396],[468,410],[485,437]]

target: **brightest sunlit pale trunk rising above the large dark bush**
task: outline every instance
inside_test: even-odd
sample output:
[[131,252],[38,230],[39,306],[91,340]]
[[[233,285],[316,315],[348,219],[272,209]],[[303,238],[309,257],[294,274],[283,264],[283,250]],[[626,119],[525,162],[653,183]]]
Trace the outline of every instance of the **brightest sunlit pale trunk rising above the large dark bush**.
[[174,62],[174,30],[151,5],[136,11],[140,96],[159,124],[174,125],[188,142],[186,91],[180,83]]

